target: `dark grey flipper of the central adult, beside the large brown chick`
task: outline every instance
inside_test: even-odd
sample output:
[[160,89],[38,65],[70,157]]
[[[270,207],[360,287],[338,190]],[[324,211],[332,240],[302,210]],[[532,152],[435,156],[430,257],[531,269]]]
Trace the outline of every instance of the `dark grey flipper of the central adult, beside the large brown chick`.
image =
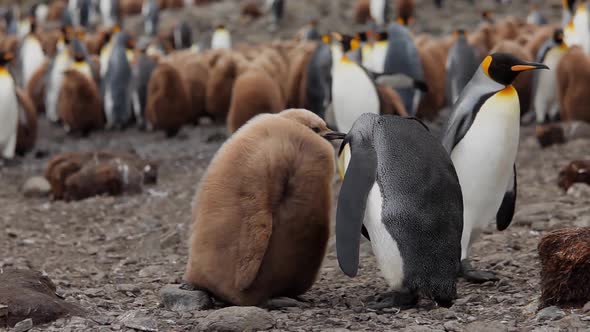
[[[350,136],[349,136],[350,137]],[[345,146],[349,137],[342,142]],[[356,276],[359,246],[367,198],[375,184],[377,154],[369,144],[350,142],[351,159],[346,170],[336,209],[336,253],[340,269]]]

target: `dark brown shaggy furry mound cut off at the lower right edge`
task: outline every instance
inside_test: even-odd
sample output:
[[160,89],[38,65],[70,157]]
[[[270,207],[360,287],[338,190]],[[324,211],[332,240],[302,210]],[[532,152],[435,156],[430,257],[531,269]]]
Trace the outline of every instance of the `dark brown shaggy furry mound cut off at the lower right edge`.
[[538,246],[541,307],[582,307],[590,301],[590,227],[553,231]]

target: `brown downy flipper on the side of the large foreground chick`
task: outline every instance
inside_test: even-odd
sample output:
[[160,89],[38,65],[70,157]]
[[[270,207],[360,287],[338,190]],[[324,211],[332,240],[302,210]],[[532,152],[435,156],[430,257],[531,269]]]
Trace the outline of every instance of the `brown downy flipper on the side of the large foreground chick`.
[[272,213],[245,218],[239,234],[234,285],[244,291],[256,280],[272,234]]

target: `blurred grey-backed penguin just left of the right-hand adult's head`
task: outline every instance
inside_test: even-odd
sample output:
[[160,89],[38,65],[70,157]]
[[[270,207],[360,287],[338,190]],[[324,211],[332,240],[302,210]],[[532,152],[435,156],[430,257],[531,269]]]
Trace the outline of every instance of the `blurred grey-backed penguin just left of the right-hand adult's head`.
[[447,102],[452,105],[457,101],[463,88],[469,83],[479,67],[475,51],[467,42],[465,30],[455,32],[455,43],[447,57]]

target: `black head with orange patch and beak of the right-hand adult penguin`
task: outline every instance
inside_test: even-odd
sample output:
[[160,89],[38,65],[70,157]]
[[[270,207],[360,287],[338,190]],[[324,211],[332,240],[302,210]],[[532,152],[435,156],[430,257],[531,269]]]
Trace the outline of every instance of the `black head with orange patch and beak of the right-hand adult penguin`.
[[520,60],[512,54],[494,53],[488,55],[481,63],[483,72],[494,81],[510,85],[518,74],[534,69],[549,69],[542,63]]

